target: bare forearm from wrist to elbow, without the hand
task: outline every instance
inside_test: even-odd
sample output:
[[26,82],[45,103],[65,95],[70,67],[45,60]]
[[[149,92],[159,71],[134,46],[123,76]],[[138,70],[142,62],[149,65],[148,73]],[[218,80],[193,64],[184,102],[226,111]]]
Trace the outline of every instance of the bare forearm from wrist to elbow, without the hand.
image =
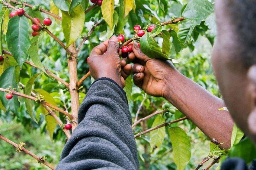
[[234,122],[225,107],[224,101],[210,94],[200,85],[173,71],[167,83],[165,98],[177,107],[210,139],[223,142],[228,149]]

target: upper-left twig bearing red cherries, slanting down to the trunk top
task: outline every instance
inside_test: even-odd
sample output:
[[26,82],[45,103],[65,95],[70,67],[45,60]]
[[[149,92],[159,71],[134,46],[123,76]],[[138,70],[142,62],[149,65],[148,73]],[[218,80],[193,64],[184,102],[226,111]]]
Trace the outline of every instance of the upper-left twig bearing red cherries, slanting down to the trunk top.
[[[4,5],[6,5],[7,8],[12,8],[15,11],[17,11],[18,9],[15,8],[14,6],[6,3],[6,2],[2,2]],[[24,14],[25,17],[29,18],[32,22],[36,23],[43,31],[47,32],[51,37],[53,37],[53,39],[55,39],[56,42],[59,43],[59,45],[64,48],[66,50],[66,52],[68,54],[70,54],[71,52],[69,51],[68,48],[66,48],[66,46],[62,43],[62,41],[60,41],[60,39],[58,39],[52,32],[49,31],[49,29],[47,29],[46,27],[43,27],[43,25],[39,22],[37,22],[36,20],[34,20],[34,18],[32,18],[30,15],[28,15],[27,13]]]

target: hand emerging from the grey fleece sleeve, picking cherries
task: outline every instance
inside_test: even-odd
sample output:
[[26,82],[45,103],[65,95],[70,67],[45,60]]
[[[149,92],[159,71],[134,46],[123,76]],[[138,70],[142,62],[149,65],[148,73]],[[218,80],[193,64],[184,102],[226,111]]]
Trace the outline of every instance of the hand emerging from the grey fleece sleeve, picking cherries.
[[[120,60],[117,37],[112,36],[108,40],[93,48],[88,61],[91,76],[94,79],[107,77],[114,80],[122,88],[125,86],[125,79],[130,75],[132,65]],[[105,53],[106,52],[106,53]]]

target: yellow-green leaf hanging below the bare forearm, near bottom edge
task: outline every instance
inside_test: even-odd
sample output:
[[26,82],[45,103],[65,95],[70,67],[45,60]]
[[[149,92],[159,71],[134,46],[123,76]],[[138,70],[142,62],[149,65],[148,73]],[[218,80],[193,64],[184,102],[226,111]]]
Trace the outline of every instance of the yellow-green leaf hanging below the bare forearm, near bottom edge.
[[172,148],[173,160],[177,170],[183,170],[190,160],[191,143],[186,132],[180,127],[168,128]]

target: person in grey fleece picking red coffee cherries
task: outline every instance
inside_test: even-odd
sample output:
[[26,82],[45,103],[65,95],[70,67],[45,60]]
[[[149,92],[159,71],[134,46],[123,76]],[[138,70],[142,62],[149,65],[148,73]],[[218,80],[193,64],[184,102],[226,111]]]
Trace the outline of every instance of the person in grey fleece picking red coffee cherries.
[[[225,103],[179,73],[171,62],[147,57],[136,42],[128,56],[134,65],[126,64],[118,56],[113,36],[109,44],[105,41],[91,52],[89,67],[96,80],[80,106],[78,126],[56,169],[139,168],[122,89],[131,71],[135,85],[166,98],[208,138],[223,143],[222,148],[230,147],[233,120],[256,142],[256,0],[216,0],[215,11],[218,35],[211,60]],[[218,111],[225,106],[230,114]],[[247,169],[240,159],[227,160],[221,169],[231,166]]]

